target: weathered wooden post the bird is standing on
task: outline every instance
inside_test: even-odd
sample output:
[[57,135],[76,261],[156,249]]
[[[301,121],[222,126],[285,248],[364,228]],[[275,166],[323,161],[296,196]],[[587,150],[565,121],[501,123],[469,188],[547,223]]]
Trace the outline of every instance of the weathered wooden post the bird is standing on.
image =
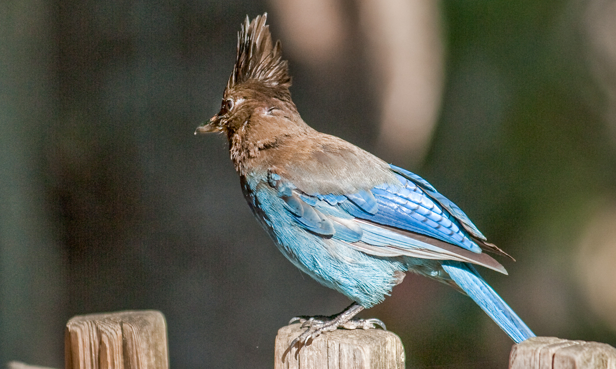
[[288,350],[306,328],[278,330],[274,369],[403,369],[404,347],[394,333],[379,329],[326,332],[301,349]]

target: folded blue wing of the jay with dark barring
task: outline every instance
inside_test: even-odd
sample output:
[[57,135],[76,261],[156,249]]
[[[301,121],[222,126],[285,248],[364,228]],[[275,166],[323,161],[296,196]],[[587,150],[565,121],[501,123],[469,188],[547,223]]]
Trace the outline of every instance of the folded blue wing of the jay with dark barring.
[[375,256],[472,262],[506,274],[471,239],[469,233],[480,232],[460,208],[421,177],[394,166],[392,171],[399,184],[344,195],[306,194],[275,173],[268,180],[296,222],[322,237]]

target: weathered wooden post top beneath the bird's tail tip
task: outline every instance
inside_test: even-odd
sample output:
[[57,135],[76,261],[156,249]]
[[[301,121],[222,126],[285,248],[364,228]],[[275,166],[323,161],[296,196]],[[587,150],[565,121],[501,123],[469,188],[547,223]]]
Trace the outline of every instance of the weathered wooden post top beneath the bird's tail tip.
[[509,369],[616,369],[616,349],[605,343],[533,337],[513,346]]

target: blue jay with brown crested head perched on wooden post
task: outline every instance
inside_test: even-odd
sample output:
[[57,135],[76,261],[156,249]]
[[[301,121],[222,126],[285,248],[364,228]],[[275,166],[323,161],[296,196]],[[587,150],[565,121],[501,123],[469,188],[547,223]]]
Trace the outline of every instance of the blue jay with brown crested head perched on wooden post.
[[467,294],[516,343],[535,336],[476,269],[507,274],[483,251],[509,255],[455,203],[417,174],[302,120],[266,20],[246,16],[221,110],[195,134],[227,136],[243,195],[278,249],[352,301],[339,314],[291,319],[306,328],[291,346],[338,328],[386,329],[355,315],[383,302],[408,272]]

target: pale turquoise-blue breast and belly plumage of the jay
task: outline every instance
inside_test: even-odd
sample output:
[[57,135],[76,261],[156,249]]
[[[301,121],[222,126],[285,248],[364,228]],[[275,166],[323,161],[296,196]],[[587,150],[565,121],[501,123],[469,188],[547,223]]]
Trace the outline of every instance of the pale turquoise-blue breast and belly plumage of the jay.
[[[258,177],[250,178],[244,192],[257,219],[269,232],[278,249],[302,272],[324,286],[346,295],[363,307],[371,307],[384,300],[397,284],[394,275],[407,271],[401,259],[379,258],[349,247],[340,237],[357,238],[352,232],[362,232],[349,224],[351,217],[342,211],[339,222],[325,219],[317,208],[304,201],[286,198],[277,189]],[[281,196],[282,195],[282,196]],[[321,201],[321,200],[318,200]],[[333,208],[336,211],[336,208]],[[338,229],[338,232],[336,232]]]

